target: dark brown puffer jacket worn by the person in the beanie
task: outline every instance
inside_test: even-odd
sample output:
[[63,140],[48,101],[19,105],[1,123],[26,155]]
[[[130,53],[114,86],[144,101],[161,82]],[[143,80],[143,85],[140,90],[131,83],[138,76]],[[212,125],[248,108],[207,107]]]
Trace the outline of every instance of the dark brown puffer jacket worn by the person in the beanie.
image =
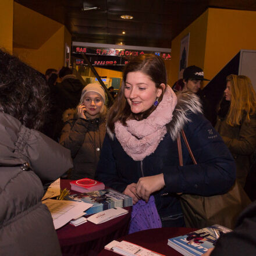
[[76,109],[68,109],[63,114],[63,120],[65,126],[59,143],[71,151],[74,168],[70,178],[94,179],[106,133],[105,118],[78,118]]

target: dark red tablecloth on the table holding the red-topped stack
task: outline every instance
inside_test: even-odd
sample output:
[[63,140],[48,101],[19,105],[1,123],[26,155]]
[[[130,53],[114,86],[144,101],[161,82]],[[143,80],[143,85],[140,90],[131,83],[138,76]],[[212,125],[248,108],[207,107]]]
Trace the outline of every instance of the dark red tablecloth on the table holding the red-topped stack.
[[[69,182],[70,180],[61,180],[61,188],[70,189]],[[129,214],[105,223],[95,225],[86,222],[77,227],[67,224],[56,230],[63,256],[98,255],[105,244],[127,234],[131,207],[125,209],[129,210]]]

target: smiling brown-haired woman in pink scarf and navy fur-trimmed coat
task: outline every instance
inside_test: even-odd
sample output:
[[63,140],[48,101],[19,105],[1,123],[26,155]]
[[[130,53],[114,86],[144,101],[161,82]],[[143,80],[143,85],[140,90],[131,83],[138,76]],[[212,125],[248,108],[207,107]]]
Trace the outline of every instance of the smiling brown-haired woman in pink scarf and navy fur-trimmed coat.
[[[107,125],[97,179],[133,198],[130,233],[184,226],[177,193],[222,194],[234,183],[233,158],[202,115],[197,95],[184,92],[177,98],[158,56],[140,56],[126,65]],[[183,150],[184,166],[179,166],[182,129],[198,165]]]

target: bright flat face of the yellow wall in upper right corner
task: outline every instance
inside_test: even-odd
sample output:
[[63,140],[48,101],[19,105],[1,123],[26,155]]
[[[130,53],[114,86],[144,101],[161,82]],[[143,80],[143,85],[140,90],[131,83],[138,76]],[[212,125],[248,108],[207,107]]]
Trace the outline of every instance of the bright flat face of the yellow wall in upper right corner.
[[205,76],[212,79],[241,49],[256,50],[255,30],[256,12],[210,8],[204,60]]

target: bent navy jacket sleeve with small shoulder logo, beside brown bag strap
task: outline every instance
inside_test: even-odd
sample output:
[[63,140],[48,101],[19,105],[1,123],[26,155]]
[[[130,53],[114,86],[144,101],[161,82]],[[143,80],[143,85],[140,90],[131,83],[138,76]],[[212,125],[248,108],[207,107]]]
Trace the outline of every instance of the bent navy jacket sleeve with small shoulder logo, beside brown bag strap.
[[191,161],[182,140],[184,166],[163,168],[165,190],[200,195],[226,193],[236,179],[234,159],[221,136],[204,116],[191,114],[189,118],[190,122],[183,130],[197,165]]

